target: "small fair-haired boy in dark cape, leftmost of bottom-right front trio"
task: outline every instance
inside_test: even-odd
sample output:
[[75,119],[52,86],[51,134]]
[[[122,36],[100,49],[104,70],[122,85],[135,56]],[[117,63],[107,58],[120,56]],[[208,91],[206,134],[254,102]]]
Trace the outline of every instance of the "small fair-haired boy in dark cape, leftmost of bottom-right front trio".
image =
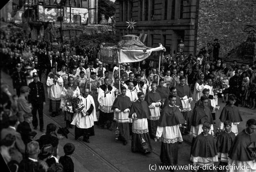
[[[194,166],[200,166],[198,171],[202,170],[203,166],[212,166],[214,162],[218,162],[218,152],[211,134],[208,134],[211,129],[211,123],[204,121],[203,132],[199,134],[194,144],[192,145],[192,152],[190,161]],[[207,170],[209,171],[209,170]]]

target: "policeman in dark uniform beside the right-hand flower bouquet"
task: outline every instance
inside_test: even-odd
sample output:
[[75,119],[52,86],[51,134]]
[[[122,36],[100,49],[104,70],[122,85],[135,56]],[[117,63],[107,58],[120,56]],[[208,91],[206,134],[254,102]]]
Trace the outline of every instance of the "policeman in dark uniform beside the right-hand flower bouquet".
[[[242,78],[239,76],[239,70],[236,69],[235,76],[229,79],[229,94],[235,94],[237,98],[240,97]],[[236,101],[235,106],[238,106],[239,101]]]

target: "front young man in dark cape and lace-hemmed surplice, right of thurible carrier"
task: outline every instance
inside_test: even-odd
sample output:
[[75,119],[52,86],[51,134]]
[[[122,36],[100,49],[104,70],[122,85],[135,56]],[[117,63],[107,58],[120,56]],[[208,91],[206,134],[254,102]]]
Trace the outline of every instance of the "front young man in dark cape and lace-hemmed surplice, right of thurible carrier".
[[185,119],[180,109],[175,106],[176,96],[172,94],[168,99],[168,106],[162,110],[158,121],[156,137],[162,140],[161,162],[164,165],[176,165],[178,164],[179,142],[183,141],[179,127],[185,123]]

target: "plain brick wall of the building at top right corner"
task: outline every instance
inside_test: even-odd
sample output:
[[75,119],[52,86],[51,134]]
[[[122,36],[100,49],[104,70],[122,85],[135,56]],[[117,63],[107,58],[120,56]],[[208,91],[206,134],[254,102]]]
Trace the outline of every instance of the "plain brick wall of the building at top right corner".
[[[246,25],[255,25],[256,0],[197,0],[195,50],[206,42],[219,39],[220,55],[223,57],[234,47],[244,42]],[[198,16],[198,17],[197,17]],[[207,33],[207,34],[205,34]]]

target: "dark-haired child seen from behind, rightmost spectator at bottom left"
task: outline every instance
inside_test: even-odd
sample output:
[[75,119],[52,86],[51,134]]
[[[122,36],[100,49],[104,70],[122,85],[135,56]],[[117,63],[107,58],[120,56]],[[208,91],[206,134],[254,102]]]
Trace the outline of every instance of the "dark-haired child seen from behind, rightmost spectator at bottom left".
[[74,163],[73,160],[70,158],[72,153],[75,151],[75,145],[72,143],[67,143],[63,147],[65,155],[60,157],[60,164],[62,164],[63,169],[65,172],[74,172]]

